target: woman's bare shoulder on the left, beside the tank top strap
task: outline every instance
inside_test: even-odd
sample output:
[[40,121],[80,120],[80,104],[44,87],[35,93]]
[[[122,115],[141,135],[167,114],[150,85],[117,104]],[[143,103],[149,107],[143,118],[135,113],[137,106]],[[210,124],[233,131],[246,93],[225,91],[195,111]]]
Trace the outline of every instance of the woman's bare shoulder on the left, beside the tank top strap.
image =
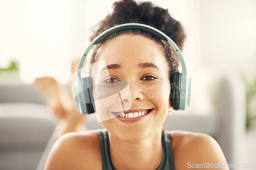
[[68,133],[53,145],[45,169],[101,169],[97,131]]

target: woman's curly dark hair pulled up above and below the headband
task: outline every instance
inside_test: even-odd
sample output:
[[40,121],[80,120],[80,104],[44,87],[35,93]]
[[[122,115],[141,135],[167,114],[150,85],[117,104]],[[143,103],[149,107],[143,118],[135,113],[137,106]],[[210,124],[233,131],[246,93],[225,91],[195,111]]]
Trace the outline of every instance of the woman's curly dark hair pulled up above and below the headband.
[[[154,6],[151,2],[136,3],[134,0],[122,0],[113,4],[113,12],[100,21],[93,28],[91,40],[97,37],[100,33],[122,23],[143,23],[152,26],[170,37],[182,50],[183,42],[186,37],[181,23],[170,16],[167,9]],[[169,76],[178,71],[179,60],[175,55],[173,48],[167,41],[160,40],[151,33],[142,32],[140,30],[122,30],[114,33],[94,49],[91,63],[95,61],[98,48],[107,40],[110,40],[120,34],[132,33],[134,35],[143,35],[155,40],[162,46],[166,60],[169,66]]]

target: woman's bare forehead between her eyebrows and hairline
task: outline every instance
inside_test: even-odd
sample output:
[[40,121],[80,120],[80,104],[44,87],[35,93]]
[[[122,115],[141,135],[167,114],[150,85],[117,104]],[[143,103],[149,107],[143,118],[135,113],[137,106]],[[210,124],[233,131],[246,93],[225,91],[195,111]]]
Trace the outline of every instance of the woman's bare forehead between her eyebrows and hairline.
[[106,64],[121,63],[166,63],[164,51],[159,43],[142,35],[122,34],[106,41],[98,51],[95,61]]

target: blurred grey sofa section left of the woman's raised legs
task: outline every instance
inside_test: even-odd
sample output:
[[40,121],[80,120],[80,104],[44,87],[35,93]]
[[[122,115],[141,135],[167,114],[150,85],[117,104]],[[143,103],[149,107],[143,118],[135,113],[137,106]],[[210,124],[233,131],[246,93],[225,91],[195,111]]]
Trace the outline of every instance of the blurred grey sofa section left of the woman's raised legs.
[[55,126],[45,105],[0,104],[0,169],[35,169]]

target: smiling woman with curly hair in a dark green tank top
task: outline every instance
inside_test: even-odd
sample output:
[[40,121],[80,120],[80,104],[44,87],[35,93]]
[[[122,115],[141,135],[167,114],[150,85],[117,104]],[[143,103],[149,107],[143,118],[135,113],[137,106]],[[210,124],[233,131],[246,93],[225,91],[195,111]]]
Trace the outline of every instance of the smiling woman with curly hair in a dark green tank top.
[[[167,10],[132,0],[114,3],[113,13],[99,23],[92,39],[127,22],[153,26],[182,48],[185,34]],[[138,30],[114,33],[95,48],[90,60],[101,61],[108,65],[104,69],[108,76],[97,76],[100,74],[92,71],[93,84],[127,81],[131,95],[123,94],[121,103],[131,104],[129,110],[122,112],[111,101],[108,104],[96,101],[95,114],[99,119],[102,113],[118,116],[101,121],[106,130],[60,137],[48,157],[46,169],[228,169],[221,166],[226,159],[210,136],[162,130],[172,108],[169,77],[178,69],[177,56],[168,43]],[[98,93],[94,91],[94,96]]]

